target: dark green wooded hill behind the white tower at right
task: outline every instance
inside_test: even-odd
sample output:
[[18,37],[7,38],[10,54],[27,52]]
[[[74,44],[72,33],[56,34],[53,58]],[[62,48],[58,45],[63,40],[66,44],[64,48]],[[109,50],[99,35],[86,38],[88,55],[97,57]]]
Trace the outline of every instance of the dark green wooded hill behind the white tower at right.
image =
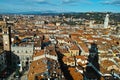
[[59,16],[65,16],[66,18],[83,18],[87,20],[96,20],[96,21],[104,21],[105,15],[109,14],[110,20],[114,22],[120,22],[120,13],[112,13],[112,12],[80,12],[80,13],[64,13]]

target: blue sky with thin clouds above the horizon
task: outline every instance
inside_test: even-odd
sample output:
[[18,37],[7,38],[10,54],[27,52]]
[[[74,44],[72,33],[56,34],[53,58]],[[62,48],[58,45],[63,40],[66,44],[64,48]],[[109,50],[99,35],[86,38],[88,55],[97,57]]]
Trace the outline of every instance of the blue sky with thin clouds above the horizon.
[[120,0],[0,0],[0,12],[120,12]]

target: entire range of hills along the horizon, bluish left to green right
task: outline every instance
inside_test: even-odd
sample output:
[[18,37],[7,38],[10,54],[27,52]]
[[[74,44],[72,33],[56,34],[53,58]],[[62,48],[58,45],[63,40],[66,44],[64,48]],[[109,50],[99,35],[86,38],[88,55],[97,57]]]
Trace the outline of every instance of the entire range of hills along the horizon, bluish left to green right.
[[98,22],[102,22],[104,21],[105,15],[109,14],[110,15],[110,20],[114,21],[114,22],[120,22],[120,13],[112,13],[112,12],[56,12],[56,11],[28,11],[28,12],[0,12],[0,14],[23,14],[23,15],[51,15],[51,16],[55,16],[58,15],[60,17],[62,17],[63,15],[66,18],[84,18],[87,20],[96,20]]

